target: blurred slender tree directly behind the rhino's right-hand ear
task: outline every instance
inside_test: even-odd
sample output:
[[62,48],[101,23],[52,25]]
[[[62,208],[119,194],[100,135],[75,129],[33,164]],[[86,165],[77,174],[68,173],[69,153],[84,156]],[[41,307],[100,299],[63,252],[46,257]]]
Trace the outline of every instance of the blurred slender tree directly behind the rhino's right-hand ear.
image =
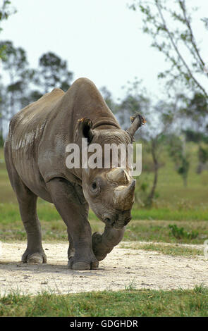
[[[161,150],[165,146],[164,137],[171,127],[175,108],[175,104],[167,104],[165,101],[153,102],[149,99],[146,89],[142,87],[141,81],[137,79],[132,83],[128,83],[126,96],[118,106],[120,122],[123,119],[124,129],[126,129],[126,125],[129,122],[129,116],[135,112],[141,113],[147,120],[147,123],[140,128],[139,132],[140,140],[145,142],[145,147],[149,151],[153,163],[154,176],[149,192],[147,192],[149,185],[146,185],[144,182],[141,185],[141,189],[146,195],[143,202],[147,206],[152,206],[156,195],[158,171],[161,166]],[[135,139],[137,139],[136,135]],[[137,196],[136,199],[138,200]]]

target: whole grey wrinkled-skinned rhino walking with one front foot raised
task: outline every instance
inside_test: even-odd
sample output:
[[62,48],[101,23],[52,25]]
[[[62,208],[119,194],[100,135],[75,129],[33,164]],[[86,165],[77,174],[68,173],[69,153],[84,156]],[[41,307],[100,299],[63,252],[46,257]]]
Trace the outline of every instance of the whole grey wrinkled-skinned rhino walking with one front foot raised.
[[[76,80],[64,93],[54,89],[13,116],[5,143],[5,159],[27,232],[22,261],[46,263],[37,217],[37,197],[53,203],[66,223],[68,267],[97,269],[123,237],[133,206],[135,180],[128,168],[68,169],[66,146],[81,143],[132,142],[142,124],[140,115],[129,130],[121,130],[94,84]],[[89,205],[106,224],[92,235]]]

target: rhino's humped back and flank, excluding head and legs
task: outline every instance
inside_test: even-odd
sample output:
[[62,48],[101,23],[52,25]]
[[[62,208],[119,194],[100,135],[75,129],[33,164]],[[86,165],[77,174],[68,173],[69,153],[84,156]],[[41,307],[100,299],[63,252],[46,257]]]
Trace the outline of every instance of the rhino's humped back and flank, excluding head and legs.
[[54,89],[12,118],[8,144],[13,164],[35,194],[41,196],[38,187],[45,188],[53,177],[81,180],[79,173],[66,168],[65,151],[73,142],[75,124],[85,117],[95,127],[119,128],[94,83],[79,78],[66,93]]

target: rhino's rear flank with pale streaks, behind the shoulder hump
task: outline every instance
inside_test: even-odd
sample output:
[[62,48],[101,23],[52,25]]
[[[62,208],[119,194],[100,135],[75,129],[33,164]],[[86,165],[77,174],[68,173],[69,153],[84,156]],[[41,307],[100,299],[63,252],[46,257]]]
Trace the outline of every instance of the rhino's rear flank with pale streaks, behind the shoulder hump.
[[53,109],[63,95],[61,89],[54,89],[23,108],[11,119],[6,140],[6,148],[9,149],[11,157],[9,161],[13,163],[25,185],[33,192],[34,187],[42,185],[38,167],[39,144],[45,126],[53,116]]

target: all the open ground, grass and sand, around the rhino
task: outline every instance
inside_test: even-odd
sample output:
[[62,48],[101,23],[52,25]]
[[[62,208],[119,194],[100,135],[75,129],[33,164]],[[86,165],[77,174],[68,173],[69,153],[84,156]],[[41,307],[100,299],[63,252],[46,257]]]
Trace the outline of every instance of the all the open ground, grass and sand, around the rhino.
[[[195,151],[194,145],[190,148]],[[4,248],[0,316],[207,316],[208,260],[203,244],[208,239],[208,172],[195,173],[193,154],[188,187],[183,187],[173,163],[165,154],[164,158],[153,207],[135,204],[133,220],[118,248],[99,264],[99,270],[78,272],[66,268],[66,225],[54,205],[42,199],[38,214],[49,263],[20,263],[26,235],[0,149],[0,241]],[[151,177],[152,173],[142,173],[138,192],[140,181],[150,182]],[[104,228],[92,211],[90,224],[92,232]],[[17,283],[20,286],[13,287]],[[25,292],[20,291],[22,287]]]

